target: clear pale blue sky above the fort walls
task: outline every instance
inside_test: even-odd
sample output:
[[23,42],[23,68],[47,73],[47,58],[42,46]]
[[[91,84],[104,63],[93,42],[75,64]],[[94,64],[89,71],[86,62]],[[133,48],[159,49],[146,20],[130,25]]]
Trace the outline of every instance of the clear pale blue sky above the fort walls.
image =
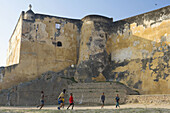
[[6,65],[8,41],[22,11],[81,19],[97,14],[125,19],[170,5],[170,0],[0,0],[0,66]]

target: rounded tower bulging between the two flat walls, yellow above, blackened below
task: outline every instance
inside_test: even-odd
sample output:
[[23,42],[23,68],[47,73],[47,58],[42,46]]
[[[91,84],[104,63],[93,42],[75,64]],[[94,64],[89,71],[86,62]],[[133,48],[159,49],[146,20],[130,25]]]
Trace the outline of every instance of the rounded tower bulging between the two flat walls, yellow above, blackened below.
[[97,78],[98,81],[106,81],[102,72],[109,65],[107,40],[112,19],[90,15],[82,20],[80,54],[75,79],[80,82],[92,82]]

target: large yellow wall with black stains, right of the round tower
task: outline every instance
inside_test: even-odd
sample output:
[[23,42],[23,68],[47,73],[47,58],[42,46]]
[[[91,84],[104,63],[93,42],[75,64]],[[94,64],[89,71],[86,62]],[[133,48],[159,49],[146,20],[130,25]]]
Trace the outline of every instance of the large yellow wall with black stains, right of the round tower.
[[169,94],[170,7],[115,22],[115,29],[111,59],[117,66],[110,74],[114,80],[141,94]]

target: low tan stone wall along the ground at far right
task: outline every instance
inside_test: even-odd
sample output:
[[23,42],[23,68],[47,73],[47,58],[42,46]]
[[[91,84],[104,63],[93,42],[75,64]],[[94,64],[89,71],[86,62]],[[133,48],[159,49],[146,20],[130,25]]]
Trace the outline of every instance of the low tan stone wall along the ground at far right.
[[170,104],[170,95],[128,95],[126,103],[139,104]]

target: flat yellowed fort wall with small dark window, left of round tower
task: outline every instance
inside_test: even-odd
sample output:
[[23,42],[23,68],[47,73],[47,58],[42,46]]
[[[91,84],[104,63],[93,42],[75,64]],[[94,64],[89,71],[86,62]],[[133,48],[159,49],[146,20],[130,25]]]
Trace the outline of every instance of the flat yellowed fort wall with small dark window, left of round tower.
[[74,21],[35,15],[34,22],[24,20],[23,26],[20,62],[23,69],[28,67],[28,75],[58,72],[76,64],[79,32]]

